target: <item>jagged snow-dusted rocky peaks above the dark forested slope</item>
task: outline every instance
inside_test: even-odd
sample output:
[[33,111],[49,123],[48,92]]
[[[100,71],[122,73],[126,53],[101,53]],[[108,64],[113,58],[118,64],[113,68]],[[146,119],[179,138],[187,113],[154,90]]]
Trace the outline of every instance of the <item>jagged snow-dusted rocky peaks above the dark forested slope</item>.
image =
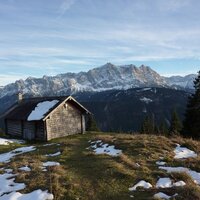
[[148,66],[116,66],[107,63],[88,72],[66,73],[57,76],[29,77],[0,88],[0,98],[18,92],[33,96],[66,95],[85,91],[123,90],[141,87],[192,88],[195,75],[165,78]]

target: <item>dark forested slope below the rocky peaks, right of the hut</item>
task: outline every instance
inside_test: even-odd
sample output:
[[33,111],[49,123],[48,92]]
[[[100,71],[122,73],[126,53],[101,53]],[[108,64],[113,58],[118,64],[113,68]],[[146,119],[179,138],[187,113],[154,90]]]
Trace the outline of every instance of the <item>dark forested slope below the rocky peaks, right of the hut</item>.
[[176,109],[183,119],[189,95],[167,88],[135,88],[81,93],[75,97],[94,114],[103,131],[133,132],[140,130],[145,116],[152,116],[158,125],[169,125]]

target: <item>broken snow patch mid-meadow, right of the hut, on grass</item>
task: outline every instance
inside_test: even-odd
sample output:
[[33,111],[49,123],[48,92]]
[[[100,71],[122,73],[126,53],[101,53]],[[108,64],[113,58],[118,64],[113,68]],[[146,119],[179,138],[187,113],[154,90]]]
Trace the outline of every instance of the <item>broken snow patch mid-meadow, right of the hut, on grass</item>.
[[101,140],[91,142],[90,148],[96,154],[107,154],[110,156],[119,156],[122,150],[116,149],[114,145],[104,144]]

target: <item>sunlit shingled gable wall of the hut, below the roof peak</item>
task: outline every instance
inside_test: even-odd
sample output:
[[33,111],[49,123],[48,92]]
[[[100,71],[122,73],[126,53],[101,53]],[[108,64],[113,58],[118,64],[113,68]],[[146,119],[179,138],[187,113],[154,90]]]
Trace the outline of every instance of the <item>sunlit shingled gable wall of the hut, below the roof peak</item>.
[[82,113],[70,103],[65,103],[46,120],[47,140],[82,133]]

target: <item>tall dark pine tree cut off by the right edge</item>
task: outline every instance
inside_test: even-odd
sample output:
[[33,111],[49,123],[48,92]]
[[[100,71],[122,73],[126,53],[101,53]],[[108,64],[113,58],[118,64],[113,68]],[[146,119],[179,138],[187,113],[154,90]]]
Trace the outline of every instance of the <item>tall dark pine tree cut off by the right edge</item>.
[[200,71],[194,80],[195,93],[188,99],[182,134],[200,138]]

